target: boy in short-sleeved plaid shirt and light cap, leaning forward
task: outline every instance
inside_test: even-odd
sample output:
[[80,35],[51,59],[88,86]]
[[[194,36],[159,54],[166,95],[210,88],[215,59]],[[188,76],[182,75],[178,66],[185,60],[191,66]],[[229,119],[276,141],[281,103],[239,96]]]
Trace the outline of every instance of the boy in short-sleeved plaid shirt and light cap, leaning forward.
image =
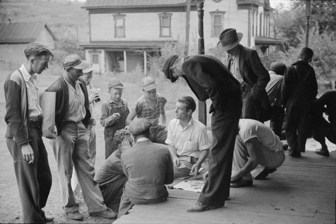
[[167,117],[165,104],[167,103],[167,99],[163,95],[156,93],[157,85],[153,77],[144,77],[141,85],[144,95],[135,101],[126,122],[127,124],[131,124],[135,116],[137,118],[149,119],[152,122],[150,140],[154,143],[166,145],[167,130],[165,128]]

